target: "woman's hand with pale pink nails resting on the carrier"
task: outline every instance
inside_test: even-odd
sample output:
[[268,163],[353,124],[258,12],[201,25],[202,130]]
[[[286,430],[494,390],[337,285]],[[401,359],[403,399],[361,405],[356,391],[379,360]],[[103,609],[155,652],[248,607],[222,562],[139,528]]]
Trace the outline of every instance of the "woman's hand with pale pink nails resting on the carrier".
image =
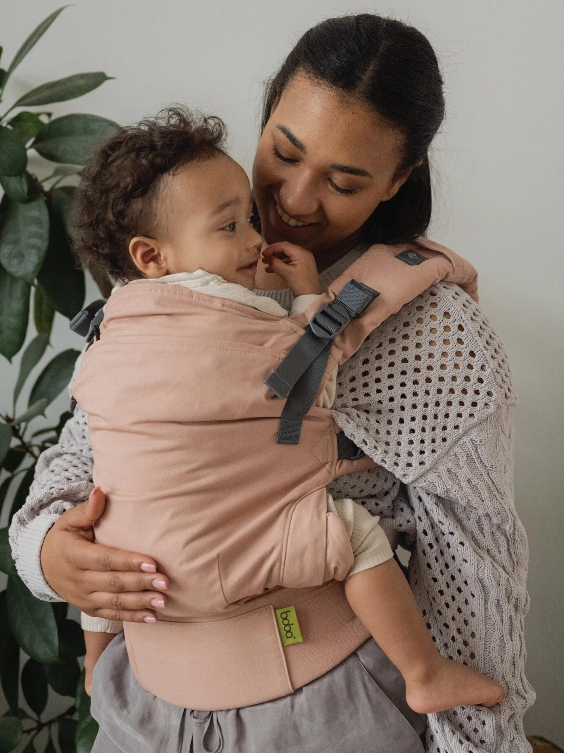
[[87,502],[57,520],[41,547],[45,580],[62,599],[92,617],[155,623],[156,610],[166,605],[162,591],[168,578],[156,572],[150,557],[92,543],[92,526],[105,504],[104,492],[96,487]]

